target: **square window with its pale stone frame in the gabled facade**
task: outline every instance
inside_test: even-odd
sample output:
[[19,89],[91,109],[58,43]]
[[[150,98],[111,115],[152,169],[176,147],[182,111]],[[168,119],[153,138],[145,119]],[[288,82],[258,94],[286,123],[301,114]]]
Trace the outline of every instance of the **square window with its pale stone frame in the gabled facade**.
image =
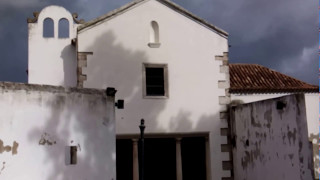
[[166,64],[144,64],[144,97],[168,97],[168,70]]

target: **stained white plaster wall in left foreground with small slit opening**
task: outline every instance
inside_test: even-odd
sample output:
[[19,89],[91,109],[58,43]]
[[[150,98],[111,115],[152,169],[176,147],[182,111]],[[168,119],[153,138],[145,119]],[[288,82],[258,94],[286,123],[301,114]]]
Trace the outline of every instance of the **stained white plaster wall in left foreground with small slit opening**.
[[0,114],[0,179],[116,179],[114,97],[104,91],[0,82]]

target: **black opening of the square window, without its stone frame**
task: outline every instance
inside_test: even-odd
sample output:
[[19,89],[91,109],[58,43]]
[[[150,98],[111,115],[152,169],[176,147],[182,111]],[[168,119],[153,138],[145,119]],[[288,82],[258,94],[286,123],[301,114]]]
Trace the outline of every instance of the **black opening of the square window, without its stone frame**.
[[164,68],[146,67],[147,96],[164,96]]

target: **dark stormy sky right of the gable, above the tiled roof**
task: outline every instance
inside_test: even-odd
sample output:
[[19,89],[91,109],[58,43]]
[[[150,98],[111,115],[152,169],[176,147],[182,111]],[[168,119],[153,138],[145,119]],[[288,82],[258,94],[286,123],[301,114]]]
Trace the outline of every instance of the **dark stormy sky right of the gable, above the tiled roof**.
[[318,84],[318,2],[175,0],[229,33],[232,63],[256,63]]

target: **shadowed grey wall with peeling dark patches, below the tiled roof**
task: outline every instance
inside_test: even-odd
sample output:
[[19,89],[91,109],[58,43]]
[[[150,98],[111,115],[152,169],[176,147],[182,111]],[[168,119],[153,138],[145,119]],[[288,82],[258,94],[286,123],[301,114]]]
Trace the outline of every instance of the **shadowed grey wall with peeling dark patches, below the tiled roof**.
[[231,122],[236,180],[313,178],[304,95],[239,105]]

